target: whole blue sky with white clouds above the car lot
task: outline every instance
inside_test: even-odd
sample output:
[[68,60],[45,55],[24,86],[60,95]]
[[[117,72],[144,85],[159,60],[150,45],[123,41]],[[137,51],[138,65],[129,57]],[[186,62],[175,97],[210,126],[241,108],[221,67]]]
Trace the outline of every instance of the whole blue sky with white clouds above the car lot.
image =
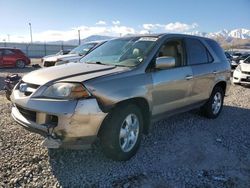
[[[0,41],[250,29],[250,0],[0,0]],[[4,19],[3,19],[4,18]],[[99,23],[99,24],[98,24]]]

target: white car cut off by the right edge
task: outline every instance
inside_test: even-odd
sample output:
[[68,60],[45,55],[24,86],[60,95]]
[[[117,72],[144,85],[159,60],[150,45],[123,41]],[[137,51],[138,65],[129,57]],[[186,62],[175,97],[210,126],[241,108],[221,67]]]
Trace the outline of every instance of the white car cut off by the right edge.
[[242,60],[233,73],[233,83],[250,84],[250,56]]

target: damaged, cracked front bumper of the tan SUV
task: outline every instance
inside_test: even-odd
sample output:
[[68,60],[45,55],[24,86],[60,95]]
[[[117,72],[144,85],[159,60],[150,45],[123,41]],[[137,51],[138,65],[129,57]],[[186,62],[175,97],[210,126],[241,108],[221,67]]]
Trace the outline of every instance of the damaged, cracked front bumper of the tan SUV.
[[85,149],[95,141],[106,117],[96,99],[54,100],[11,95],[11,115],[25,129],[46,137],[48,148]]

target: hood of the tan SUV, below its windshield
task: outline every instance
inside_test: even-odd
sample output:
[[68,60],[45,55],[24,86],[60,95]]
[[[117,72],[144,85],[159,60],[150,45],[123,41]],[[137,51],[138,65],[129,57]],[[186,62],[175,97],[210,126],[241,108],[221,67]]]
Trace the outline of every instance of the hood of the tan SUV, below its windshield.
[[22,80],[26,83],[36,85],[44,85],[55,81],[83,82],[88,79],[125,70],[128,70],[128,68],[111,65],[68,63],[30,72]]

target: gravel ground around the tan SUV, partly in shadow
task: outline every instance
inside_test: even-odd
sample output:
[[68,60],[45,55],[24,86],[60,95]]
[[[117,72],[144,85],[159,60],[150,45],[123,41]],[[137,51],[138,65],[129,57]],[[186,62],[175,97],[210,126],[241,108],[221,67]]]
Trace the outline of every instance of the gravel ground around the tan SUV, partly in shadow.
[[15,69],[0,69],[0,187],[250,187],[250,88],[232,86],[216,120],[193,111],[154,124],[135,157],[114,162],[98,144],[43,148],[10,117],[7,72]]

